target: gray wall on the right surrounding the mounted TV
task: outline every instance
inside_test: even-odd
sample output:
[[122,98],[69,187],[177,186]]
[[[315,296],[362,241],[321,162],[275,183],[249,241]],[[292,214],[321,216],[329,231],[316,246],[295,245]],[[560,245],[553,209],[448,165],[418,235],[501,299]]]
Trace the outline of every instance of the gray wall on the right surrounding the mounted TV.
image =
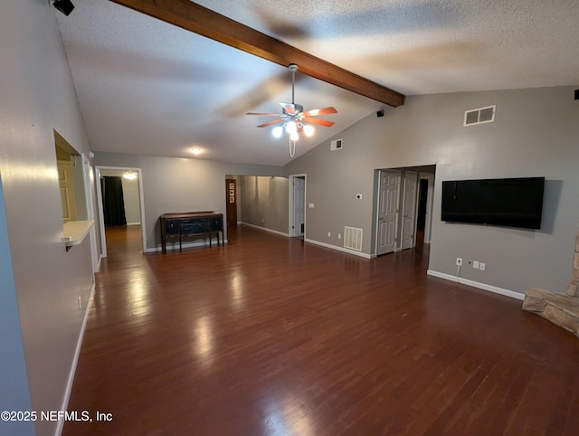
[[[285,167],[305,173],[307,237],[327,241],[345,225],[364,229],[363,251],[375,251],[375,178],[378,168],[436,165],[430,269],[455,275],[455,261],[484,261],[486,271],[461,276],[522,293],[536,286],[564,292],[579,224],[579,103],[574,88],[465,92],[409,97],[404,106],[373,114]],[[494,123],[462,127],[464,111],[497,105]],[[338,108],[339,109],[339,108]],[[441,223],[441,181],[546,176],[541,231]],[[364,194],[356,200],[355,194]]]

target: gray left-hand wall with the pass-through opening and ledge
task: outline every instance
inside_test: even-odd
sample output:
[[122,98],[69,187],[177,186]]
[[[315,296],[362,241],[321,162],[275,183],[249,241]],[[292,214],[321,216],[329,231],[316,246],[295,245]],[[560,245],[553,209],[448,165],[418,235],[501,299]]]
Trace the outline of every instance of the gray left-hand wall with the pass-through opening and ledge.
[[[3,2],[0,52],[0,175],[12,258],[12,272],[6,254],[0,258],[0,299],[9,313],[3,327],[18,317],[22,331],[19,344],[14,325],[8,326],[8,353],[14,355],[6,357],[3,349],[0,357],[0,384],[7,386],[1,393],[3,409],[32,404],[35,411],[59,410],[93,274],[89,239],[69,252],[61,242],[53,129],[81,153],[88,154],[90,146],[51,5],[39,0]],[[38,420],[34,425],[37,434],[47,435],[57,423]],[[21,429],[21,434],[30,434],[30,423],[22,423]],[[4,434],[18,434],[13,430]]]

